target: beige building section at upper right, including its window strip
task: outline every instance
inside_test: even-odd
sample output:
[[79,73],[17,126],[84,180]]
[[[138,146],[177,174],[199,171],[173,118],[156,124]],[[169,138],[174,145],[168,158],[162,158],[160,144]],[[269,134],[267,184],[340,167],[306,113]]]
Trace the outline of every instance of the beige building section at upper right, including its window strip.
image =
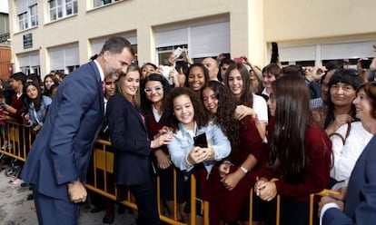
[[308,61],[322,64],[375,56],[373,0],[269,0],[264,2],[265,43],[280,45],[286,63]]

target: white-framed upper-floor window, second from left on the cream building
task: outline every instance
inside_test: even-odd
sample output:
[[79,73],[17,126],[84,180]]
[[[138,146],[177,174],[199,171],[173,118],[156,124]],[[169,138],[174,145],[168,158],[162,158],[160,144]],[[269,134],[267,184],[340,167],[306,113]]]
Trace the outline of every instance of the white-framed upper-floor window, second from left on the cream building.
[[50,21],[77,14],[77,0],[51,0],[48,2]]

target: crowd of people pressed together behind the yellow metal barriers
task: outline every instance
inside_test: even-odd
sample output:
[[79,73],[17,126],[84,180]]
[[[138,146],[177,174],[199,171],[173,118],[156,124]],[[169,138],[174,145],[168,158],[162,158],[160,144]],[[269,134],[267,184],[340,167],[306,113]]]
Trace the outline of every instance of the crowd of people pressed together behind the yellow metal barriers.
[[[105,78],[101,137],[112,142],[114,183],[129,187],[139,218],[158,224],[155,175],[168,216],[189,222],[195,213],[198,224],[203,214],[190,209],[191,174],[197,197],[210,203],[211,224],[249,224],[252,188],[254,224],[275,224],[276,195],[281,224],[308,224],[310,193],[332,188],[344,200],[352,168],[376,133],[375,78],[364,75],[376,70],[375,59],[370,68],[360,60],[356,70],[342,62],[259,68],[241,59],[220,55],[193,63],[184,49],[168,65],[133,64],[118,81]],[[32,135],[41,130],[64,75],[37,78],[14,73],[10,86],[2,83],[3,129],[13,120]],[[203,133],[206,142],[196,142]],[[3,149],[12,147],[6,139]],[[320,199],[314,201],[317,209]],[[106,206],[104,222],[112,223],[114,203]]]

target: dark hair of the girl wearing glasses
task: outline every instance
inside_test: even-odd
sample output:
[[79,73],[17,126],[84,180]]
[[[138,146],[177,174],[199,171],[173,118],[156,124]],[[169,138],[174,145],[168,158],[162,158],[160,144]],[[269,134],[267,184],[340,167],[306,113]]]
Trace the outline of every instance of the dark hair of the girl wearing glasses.
[[152,110],[152,104],[146,97],[146,93],[144,92],[145,89],[145,84],[153,81],[153,82],[160,82],[162,84],[163,88],[163,101],[169,91],[171,90],[171,85],[168,83],[166,78],[163,77],[163,75],[158,74],[158,73],[151,73],[148,76],[146,76],[142,82],[141,82],[141,87],[140,87],[140,93],[141,93],[141,108],[143,109],[144,112],[148,112]]

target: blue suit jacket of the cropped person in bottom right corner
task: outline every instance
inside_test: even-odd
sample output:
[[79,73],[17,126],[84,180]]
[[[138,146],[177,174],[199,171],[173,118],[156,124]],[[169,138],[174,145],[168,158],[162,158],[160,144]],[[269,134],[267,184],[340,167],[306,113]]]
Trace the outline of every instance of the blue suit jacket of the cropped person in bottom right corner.
[[351,172],[343,212],[333,208],[325,211],[322,224],[376,224],[376,135]]

